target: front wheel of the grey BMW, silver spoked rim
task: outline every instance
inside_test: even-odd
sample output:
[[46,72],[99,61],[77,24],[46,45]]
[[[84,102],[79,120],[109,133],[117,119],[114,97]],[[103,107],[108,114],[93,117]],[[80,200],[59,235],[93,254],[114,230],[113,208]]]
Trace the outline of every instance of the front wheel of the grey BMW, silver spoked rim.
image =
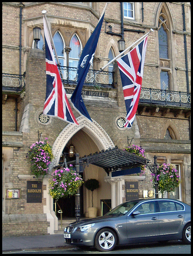
[[110,228],[103,228],[95,236],[95,248],[100,252],[110,252],[116,246],[116,234]]

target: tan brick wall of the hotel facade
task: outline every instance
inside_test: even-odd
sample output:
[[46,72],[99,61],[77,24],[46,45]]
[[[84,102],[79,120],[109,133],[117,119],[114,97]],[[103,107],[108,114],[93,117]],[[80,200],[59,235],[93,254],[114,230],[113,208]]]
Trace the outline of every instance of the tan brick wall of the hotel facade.
[[[67,126],[66,122],[58,118],[52,118],[49,125],[42,125],[38,122],[38,115],[43,111],[45,101],[46,75],[45,75],[45,52],[32,48],[33,26],[42,26],[42,10],[47,10],[48,20],[51,21],[51,32],[59,28],[64,34],[65,46],[68,46],[72,36],[72,31],[78,31],[81,35],[81,43],[84,46],[89,38],[91,31],[98,22],[105,3],[96,3],[96,8],[91,10],[86,4],[81,3],[24,3],[22,9],[22,73],[26,71],[26,90],[18,98],[18,135],[11,133],[15,126],[15,98],[8,96],[2,105],[2,128],[3,128],[3,233],[4,236],[35,235],[47,234],[47,221],[43,214],[45,198],[42,197],[42,203],[26,203],[26,184],[27,179],[18,178],[18,175],[29,175],[30,164],[26,161],[26,154],[30,145],[38,140],[38,132],[42,132],[42,137],[49,138],[51,145],[55,142],[61,131]],[[141,8],[141,3],[137,3]],[[154,28],[154,33],[148,36],[148,46],[144,66],[144,78],[142,87],[158,88],[159,84],[159,54],[158,37],[156,30],[156,15],[159,2],[144,2],[144,21],[142,22],[142,10],[137,11],[137,22],[124,19],[124,28],[141,29],[145,33]],[[173,29],[177,34],[171,32],[172,38],[172,72],[175,90],[187,91],[185,74],[185,52],[183,38],[183,16],[181,3],[167,3],[171,12]],[[185,6],[186,14],[189,6]],[[99,10],[99,13],[98,13]],[[9,74],[19,73],[19,12],[17,3],[6,2],[3,4],[2,20],[2,42],[3,42],[3,72]],[[9,23],[8,23],[9,22]],[[105,23],[107,22],[107,24]],[[188,17],[186,15],[186,22]],[[112,26],[112,31],[121,33],[120,29],[120,3],[112,2],[108,4],[104,16],[104,22],[100,33],[97,46],[97,56],[101,58],[98,62],[98,68],[102,68],[106,58],[108,58],[107,48],[109,42],[113,39],[114,45],[117,45],[120,37],[105,33],[108,31],[108,25]],[[67,30],[69,34],[66,33]],[[188,28],[187,31],[189,32]],[[70,36],[69,36],[70,35]],[[138,40],[142,33],[124,32],[126,47]],[[187,53],[188,66],[190,68],[190,35],[187,35]],[[27,51],[26,48],[29,50]],[[26,50],[26,51],[25,51]],[[118,54],[118,48],[113,49]],[[26,52],[24,54],[24,52]],[[106,64],[106,62],[105,62]],[[177,67],[175,69],[174,67]],[[147,151],[147,158],[153,160],[154,154],[161,152],[168,159],[179,160],[182,163],[184,182],[183,199],[190,202],[191,189],[190,184],[190,144],[189,144],[189,120],[183,113],[174,116],[168,112],[166,116],[161,115],[161,111],[151,114],[150,110],[144,111],[142,115],[137,113],[136,124],[131,129],[120,130],[116,126],[116,118],[126,115],[125,103],[122,93],[122,83],[117,64],[114,64],[115,71],[115,89],[107,90],[114,93],[114,98],[108,98],[108,101],[97,101],[95,98],[85,100],[85,105],[91,116],[108,134],[114,145],[122,149],[127,146],[127,138],[134,138],[132,144],[143,146]],[[189,74],[190,75],[190,74]],[[190,79],[189,79],[190,82]],[[72,86],[73,87],[73,86]],[[69,86],[70,88],[70,86]],[[24,121],[24,109],[27,108],[26,122]],[[75,111],[74,111],[75,113]],[[77,117],[78,114],[75,113]],[[162,131],[167,122],[170,122],[179,134],[179,140],[169,143],[162,141]],[[22,123],[22,126],[21,126]],[[24,129],[25,128],[25,129]],[[139,131],[137,131],[137,128]],[[10,133],[9,133],[10,132]],[[93,135],[94,136],[94,135]],[[80,138],[81,140],[81,138]],[[152,141],[153,140],[153,141]],[[97,146],[93,146],[96,148]],[[90,153],[90,152],[89,152]],[[94,153],[94,152],[92,152]],[[174,155],[175,153],[175,155]],[[146,178],[139,182],[140,197],[142,190],[152,189],[150,171],[146,169]],[[30,179],[28,179],[30,180]],[[32,180],[32,179],[31,179]],[[19,199],[5,199],[6,188],[20,188],[21,196]],[[43,186],[43,190],[46,187]]]

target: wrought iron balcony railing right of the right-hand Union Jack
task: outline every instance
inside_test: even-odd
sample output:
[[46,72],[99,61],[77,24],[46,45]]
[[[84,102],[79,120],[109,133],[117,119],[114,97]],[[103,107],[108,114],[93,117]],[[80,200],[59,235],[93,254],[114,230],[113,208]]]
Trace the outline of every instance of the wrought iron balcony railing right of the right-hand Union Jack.
[[139,102],[190,108],[191,94],[188,92],[142,88]]

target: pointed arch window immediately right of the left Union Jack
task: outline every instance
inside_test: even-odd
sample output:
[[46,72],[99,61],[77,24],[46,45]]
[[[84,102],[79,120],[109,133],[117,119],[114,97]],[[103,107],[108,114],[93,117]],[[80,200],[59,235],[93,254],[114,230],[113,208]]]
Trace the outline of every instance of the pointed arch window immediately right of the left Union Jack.
[[[55,46],[55,49],[57,52],[57,56],[58,56],[60,65],[65,66],[65,53],[64,53],[65,46],[64,46],[63,38],[62,38],[61,34],[59,33],[59,31],[57,31],[55,33],[55,35],[53,36],[53,43],[54,43],[54,46]],[[54,52],[54,54],[55,54],[55,52]]]

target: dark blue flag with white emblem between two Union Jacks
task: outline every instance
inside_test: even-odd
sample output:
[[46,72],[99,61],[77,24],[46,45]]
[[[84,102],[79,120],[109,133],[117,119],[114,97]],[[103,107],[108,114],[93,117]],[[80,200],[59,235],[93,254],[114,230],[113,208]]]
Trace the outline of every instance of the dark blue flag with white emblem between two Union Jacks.
[[[100,30],[102,27],[104,14],[98,21],[98,24],[91,34],[89,40],[87,41],[83,52],[81,54],[81,58],[79,60],[78,68],[77,68],[77,86],[70,98],[71,103],[73,104],[73,107],[83,116],[91,120],[91,117],[89,116],[89,113],[85,107],[85,104],[83,102],[83,98],[81,96],[81,91],[83,88],[83,84],[85,82],[85,78],[87,76],[87,73],[89,71],[90,65],[93,62],[95,50],[97,48],[98,38],[100,35]],[[92,120],[91,120],[92,122]]]

